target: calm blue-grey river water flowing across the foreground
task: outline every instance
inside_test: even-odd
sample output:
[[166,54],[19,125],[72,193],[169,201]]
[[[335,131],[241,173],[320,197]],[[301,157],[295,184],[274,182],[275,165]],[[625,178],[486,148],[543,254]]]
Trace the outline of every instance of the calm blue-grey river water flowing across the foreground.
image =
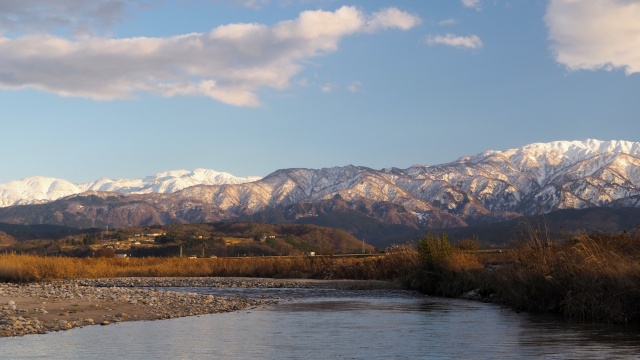
[[0,339],[2,359],[634,359],[640,331],[405,291],[186,289],[281,302]]

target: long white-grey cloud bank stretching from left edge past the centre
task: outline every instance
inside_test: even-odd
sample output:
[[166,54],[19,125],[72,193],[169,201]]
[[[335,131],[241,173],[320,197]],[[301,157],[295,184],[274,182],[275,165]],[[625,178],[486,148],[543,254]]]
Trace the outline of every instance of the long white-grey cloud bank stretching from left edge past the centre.
[[367,15],[355,7],[305,11],[272,27],[229,24],[167,38],[36,34],[0,37],[0,88],[35,88],[100,100],[201,95],[258,106],[261,87],[284,89],[310,58],[336,51],[358,33],[409,29],[420,21],[397,9]]

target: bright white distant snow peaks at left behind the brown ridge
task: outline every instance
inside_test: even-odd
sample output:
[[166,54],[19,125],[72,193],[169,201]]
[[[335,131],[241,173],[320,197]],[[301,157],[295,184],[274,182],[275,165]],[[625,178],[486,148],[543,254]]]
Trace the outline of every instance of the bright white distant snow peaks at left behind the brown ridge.
[[140,179],[100,179],[82,184],[36,176],[0,184],[0,207],[45,203],[85,191],[167,194],[194,185],[241,184],[259,179],[260,177],[236,177],[206,169],[167,171]]

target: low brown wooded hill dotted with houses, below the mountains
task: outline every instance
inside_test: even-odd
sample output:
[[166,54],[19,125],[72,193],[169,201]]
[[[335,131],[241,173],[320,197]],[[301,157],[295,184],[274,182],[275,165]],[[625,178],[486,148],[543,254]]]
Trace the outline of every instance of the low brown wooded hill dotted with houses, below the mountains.
[[[153,242],[134,245],[137,239]],[[109,242],[127,246],[126,249],[98,251],[97,246],[108,246],[106,243]],[[342,230],[255,222],[154,225],[109,231],[90,229],[59,240],[6,241],[4,244],[5,253],[69,257],[113,257],[115,253],[133,257],[238,257],[375,251],[371,245],[363,247],[360,240]]]

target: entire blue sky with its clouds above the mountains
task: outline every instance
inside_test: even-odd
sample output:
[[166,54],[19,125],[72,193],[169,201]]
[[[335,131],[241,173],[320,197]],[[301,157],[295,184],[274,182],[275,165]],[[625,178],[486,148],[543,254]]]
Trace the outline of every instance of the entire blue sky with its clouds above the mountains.
[[640,0],[2,0],[0,183],[640,141]]

